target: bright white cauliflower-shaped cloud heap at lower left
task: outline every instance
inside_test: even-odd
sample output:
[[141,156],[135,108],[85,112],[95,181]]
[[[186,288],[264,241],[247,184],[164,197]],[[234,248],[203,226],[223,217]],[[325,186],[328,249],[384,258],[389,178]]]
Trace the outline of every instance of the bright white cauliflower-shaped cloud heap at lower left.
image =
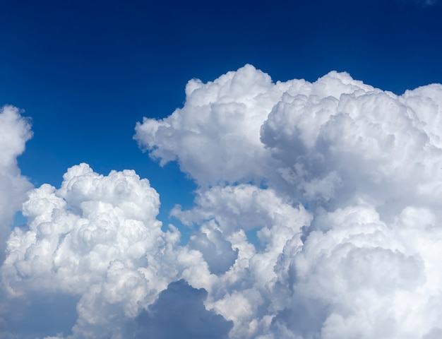
[[8,298],[71,295],[74,338],[118,338],[179,273],[179,232],[161,230],[159,207],[147,179],[86,164],[68,169],[60,189],[30,191],[28,229],[13,230],[1,268]]

